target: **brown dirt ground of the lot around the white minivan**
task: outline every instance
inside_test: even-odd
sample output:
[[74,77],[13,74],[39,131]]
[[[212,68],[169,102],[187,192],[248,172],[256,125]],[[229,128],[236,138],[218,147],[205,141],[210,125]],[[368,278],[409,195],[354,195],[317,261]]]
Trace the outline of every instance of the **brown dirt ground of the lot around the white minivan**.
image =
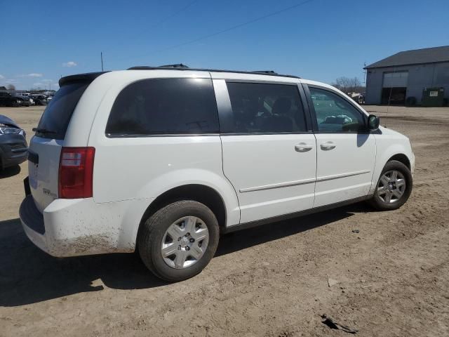
[[[412,140],[405,206],[354,204],[229,234],[206,270],[177,284],[135,254],[39,251],[18,220],[27,165],[0,173],[0,336],[347,336],[323,314],[356,336],[449,336],[449,108],[366,109]],[[0,108],[28,138],[41,112]]]

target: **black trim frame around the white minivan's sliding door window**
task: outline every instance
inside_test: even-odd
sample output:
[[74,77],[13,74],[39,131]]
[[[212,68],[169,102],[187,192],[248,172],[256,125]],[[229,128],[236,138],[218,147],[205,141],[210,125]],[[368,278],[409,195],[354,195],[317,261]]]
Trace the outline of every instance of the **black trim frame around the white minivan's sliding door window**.
[[[259,136],[259,135],[286,135],[286,134],[310,134],[313,133],[313,124],[310,116],[309,105],[307,104],[307,96],[304,93],[302,84],[298,82],[279,82],[279,81],[255,81],[247,79],[213,79],[213,88],[215,99],[217,101],[218,120],[220,124],[220,136]],[[231,98],[227,88],[227,83],[250,83],[250,84],[281,84],[286,86],[296,86],[304,111],[304,118],[307,131],[293,132],[232,132],[234,131],[234,114],[232,111]]]

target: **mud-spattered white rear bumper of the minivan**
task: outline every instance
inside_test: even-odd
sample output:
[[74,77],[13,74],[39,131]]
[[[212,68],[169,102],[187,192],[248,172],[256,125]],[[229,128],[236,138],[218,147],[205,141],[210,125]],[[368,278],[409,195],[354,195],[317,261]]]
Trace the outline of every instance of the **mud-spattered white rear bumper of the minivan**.
[[27,237],[52,256],[128,253],[135,249],[140,209],[133,201],[55,199],[41,213],[29,195],[20,205],[20,221]]

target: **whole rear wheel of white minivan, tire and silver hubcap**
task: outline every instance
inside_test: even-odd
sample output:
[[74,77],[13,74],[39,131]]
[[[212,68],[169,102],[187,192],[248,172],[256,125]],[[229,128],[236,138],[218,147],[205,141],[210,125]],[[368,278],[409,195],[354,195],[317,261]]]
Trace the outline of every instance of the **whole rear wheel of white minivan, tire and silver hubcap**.
[[170,282],[193,277],[217,250],[215,215],[198,201],[176,201],[150,216],[140,229],[140,258],[154,275]]

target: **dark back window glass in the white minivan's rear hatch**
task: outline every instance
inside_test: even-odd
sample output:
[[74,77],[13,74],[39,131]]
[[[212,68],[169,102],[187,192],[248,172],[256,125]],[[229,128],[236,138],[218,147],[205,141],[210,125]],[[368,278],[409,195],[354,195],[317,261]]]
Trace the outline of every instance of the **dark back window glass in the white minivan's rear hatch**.
[[64,139],[76,104],[88,85],[86,82],[77,82],[62,86],[43,112],[36,136]]

